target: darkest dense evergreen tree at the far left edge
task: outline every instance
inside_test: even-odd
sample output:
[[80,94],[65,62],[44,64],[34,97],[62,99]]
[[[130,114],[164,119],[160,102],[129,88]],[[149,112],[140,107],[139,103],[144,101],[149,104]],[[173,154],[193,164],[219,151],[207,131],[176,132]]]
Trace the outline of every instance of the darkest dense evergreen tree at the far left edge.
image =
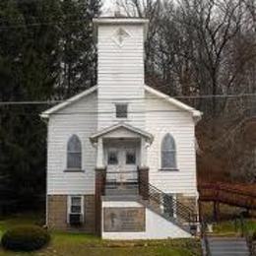
[[[60,27],[56,1],[1,2],[0,100],[47,99],[59,74]],[[0,171],[10,179],[10,196],[32,203],[45,187],[43,108],[0,107]],[[34,200],[35,201],[35,200]]]

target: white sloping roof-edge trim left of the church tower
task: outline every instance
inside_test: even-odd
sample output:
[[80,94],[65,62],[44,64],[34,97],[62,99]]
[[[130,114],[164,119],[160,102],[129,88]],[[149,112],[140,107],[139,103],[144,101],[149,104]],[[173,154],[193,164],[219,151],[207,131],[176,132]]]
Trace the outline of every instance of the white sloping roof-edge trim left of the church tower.
[[47,109],[46,111],[42,112],[40,114],[40,117],[48,118],[50,114],[53,114],[53,113],[59,111],[60,109],[63,109],[64,107],[77,102],[79,99],[81,99],[84,96],[88,96],[88,95],[94,93],[96,91],[96,89],[97,89],[97,86],[94,86],[94,87],[82,92],[81,94],[72,96],[72,97],[68,98],[67,100],[65,100],[64,102],[57,104],[57,105]]

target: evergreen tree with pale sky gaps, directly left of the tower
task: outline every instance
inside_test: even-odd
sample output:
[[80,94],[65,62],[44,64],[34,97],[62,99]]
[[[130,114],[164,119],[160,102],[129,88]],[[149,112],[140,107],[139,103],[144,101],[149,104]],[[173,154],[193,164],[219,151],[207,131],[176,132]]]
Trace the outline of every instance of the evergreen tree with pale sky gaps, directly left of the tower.
[[60,95],[72,96],[96,84],[96,48],[92,20],[99,0],[62,2],[62,73]]

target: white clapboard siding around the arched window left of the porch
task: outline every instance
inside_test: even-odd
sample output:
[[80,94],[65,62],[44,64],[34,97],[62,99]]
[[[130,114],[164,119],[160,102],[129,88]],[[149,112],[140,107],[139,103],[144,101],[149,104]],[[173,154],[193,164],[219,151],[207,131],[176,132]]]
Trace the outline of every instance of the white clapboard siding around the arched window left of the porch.
[[[96,149],[89,137],[96,131],[96,107],[95,92],[60,109],[49,118],[48,194],[95,193]],[[79,136],[82,143],[82,168],[85,172],[64,172],[67,163],[67,142],[73,134]]]

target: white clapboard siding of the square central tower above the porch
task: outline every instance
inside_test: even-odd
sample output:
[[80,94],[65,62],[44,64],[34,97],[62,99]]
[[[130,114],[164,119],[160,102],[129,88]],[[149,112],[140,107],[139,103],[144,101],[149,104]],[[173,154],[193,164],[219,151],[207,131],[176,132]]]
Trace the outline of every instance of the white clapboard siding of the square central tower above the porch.
[[[115,41],[119,28],[129,34],[122,46]],[[144,26],[98,25],[97,34],[97,129],[122,121],[115,117],[115,103],[118,102],[128,103],[130,113],[125,121],[144,129],[144,100],[134,100],[134,97],[144,97]]]

